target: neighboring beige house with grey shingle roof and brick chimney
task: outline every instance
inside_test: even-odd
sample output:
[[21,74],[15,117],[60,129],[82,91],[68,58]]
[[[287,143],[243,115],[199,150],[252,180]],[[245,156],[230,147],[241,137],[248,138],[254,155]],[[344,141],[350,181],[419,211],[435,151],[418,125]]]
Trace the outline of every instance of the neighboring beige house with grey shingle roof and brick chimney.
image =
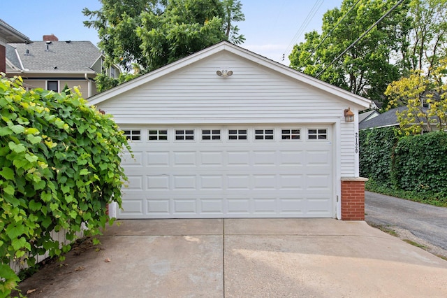
[[6,73],[22,76],[27,87],[61,92],[65,86],[80,86],[83,97],[98,94],[94,78],[106,73],[119,76],[117,66],[105,69],[104,56],[90,41],[59,41],[54,35],[44,35],[43,41],[31,44],[8,43]]

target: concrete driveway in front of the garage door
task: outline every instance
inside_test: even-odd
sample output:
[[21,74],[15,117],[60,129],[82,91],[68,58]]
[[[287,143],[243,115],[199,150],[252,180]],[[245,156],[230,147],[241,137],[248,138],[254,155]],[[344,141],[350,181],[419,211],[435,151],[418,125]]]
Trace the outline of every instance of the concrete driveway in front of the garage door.
[[366,222],[120,220],[29,297],[447,297],[447,261]]

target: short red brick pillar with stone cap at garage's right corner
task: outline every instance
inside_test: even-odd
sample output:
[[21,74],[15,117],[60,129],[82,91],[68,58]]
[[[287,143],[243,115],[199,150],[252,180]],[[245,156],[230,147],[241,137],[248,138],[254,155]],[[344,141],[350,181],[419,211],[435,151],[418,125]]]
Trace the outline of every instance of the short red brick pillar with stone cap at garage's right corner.
[[365,220],[367,178],[342,178],[342,220]]

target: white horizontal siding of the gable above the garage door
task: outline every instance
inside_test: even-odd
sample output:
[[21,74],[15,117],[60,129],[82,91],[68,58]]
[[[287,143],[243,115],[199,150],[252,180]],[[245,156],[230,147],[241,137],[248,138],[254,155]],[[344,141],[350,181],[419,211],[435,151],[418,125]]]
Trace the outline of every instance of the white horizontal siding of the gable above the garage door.
[[[228,69],[233,76],[219,77]],[[220,53],[98,105],[117,123],[334,122],[346,104],[263,66]]]

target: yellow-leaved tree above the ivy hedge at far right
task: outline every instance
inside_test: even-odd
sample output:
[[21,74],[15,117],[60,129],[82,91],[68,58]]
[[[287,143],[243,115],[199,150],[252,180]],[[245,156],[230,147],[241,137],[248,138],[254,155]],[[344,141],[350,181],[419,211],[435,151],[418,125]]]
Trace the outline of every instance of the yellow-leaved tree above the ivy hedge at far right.
[[400,134],[409,136],[432,132],[435,128],[443,131],[447,127],[447,59],[441,59],[439,66],[427,73],[430,75],[420,70],[412,71],[386,89],[390,106],[405,105],[408,108],[396,113]]

